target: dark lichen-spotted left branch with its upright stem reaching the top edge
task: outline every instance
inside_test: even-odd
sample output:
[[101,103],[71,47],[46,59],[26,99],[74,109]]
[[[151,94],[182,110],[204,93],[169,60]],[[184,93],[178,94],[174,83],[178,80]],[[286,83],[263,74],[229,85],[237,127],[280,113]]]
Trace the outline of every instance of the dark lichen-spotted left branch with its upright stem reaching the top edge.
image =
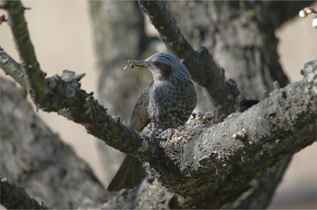
[[[2,7],[9,12],[8,22],[14,22],[14,24],[11,24],[12,31],[14,32],[13,35],[16,40],[20,40],[17,41],[16,44],[18,50],[23,51],[20,53],[21,60],[33,59],[32,62],[37,63],[33,46],[29,40],[26,22],[24,17],[21,17],[24,11],[23,6],[20,2],[12,3],[9,1],[5,3],[3,3],[4,6],[2,5]],[[22,30],[23,33],[19,32],[19,30]],[[2,53],[5,54],[4,51]],[[1,68],[3,68],[7,74],[14,77],[17,82],[21,82],[20,74],[15,74],[14,68],[12,68],[15,63],[13,59],[8,59],[6,61],[7,65],[3,65]],[[21,65],[21,67],[23,69],[23,65]],[[152,158],[161,156],[157,153],[152,154],[152,151],[160,152],[156,139],[146,140],[140,138],[137,132],[120,124],[119,121],[107,115],[106,110],[92,97],[93,92],[88,94],[80,89],[78,81],[82,76],[80,77],[76,74],[68,75],[71,74],[71,72],[64,71],[61,78],[55,75],[44,80],[44,77],[38,74],[45,75],[45,73],[40,70],[39,65],[32,65],[29,69],[33,69],[34,71],[25,71],[23,78],[30,78],[30,93],[36,105],[44,111],[58,112],[69,120],[84,125],[88,133],[103,139],[109,146],[137,157],[140,160],[152,161]],[[16,69],[16,71],[18,71],[18,69]],[[25,76],[25,74],[27,74],[27,76]],[[39,85],[42,83],[44,84],[43,86]],[[21,86],[23,85],[21,84]],[[44,86],[45,88],[43,88]],[[122,142],[125,143],[122,144]],[[147,152],[144,151],[144,142],[147,142]],[[148,159],[148,157],[150,157],[150,159]]]

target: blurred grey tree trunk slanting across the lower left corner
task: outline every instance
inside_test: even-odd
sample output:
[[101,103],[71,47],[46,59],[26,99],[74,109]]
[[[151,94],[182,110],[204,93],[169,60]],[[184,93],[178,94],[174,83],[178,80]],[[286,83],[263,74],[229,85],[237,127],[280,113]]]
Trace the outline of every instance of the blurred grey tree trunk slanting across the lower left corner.
[[0,85],[1,177],[48,208],[94,207],[106,190],[88,164],[34,113],[25,89],[3,79]]

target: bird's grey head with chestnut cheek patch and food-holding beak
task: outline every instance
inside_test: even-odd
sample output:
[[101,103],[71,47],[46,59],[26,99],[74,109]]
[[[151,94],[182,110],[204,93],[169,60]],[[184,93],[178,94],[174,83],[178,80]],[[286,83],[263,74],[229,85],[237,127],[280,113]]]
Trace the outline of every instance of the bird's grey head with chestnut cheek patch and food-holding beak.
[[168,52],[159,52],[145,60],[130,60],[134,66],[144,67],[152,73],[154,83],[178,83],[191,79],[187,68],[178,58]]

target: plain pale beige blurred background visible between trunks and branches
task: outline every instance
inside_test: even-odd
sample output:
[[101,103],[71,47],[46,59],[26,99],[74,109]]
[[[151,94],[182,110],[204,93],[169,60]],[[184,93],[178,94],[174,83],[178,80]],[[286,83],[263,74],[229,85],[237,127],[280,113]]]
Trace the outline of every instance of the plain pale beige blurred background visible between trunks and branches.
[[[86,1],[22,1],[22,3],[25,7],[31,8],[25,10],[25,18],[42,71],[46,72],[48,77],[54,74],[61,75],[65,69],[79,74],[86,73],[81,80],[81,88],[86,92],[93,91],[94,97],[99,99],[97,60],[88,3]],[[316,3],[312,7],[316,10]],[[3,13],[5,14],[5,11],[1,10],[1,14]],[[146,18],[145,20],[147,35],[158,36],[154,27]],[[300,70],[306,62],[317,59],[317,30],[312,27],[312,20],[313,15],[305,19],[296,17],[284,23],[275,32],[279,39],[280,63],[291,83],[302,79]],[[6,22],[1,24],[0,37],[1,47],[19,62],[11,31]],[[0,76],[11,79],[2,71]],[[97,153],[97,143],[100,140],[87,134],[82,125],[57,116],[57,113],[39,111],[38,115],[51,130],[60,135],[62,140],[74,147],[77,155],[88,162],[100,182],[107,186]],[[293,156],[269,209],[317,208],[316,145],[315,142]]]

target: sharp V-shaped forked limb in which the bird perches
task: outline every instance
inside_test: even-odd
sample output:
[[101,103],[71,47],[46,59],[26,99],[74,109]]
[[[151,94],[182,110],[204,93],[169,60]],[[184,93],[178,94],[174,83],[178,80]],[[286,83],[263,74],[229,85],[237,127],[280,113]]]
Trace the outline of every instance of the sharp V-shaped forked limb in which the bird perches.
[[[308,63],[303,74],[303,81],[275,90],[261,103],[231,114],[215,127],[193,120],[165,130],[160,138],[140,136],[109,117],[92,93],[80,89],[82,76],[69,71],[61,78],[43,80],[48,92],[43,104],[36,101],[44,111],[56,111],[83,124],[108,145],[149,162],[152,175],[166,188],[188,196],[180,198],[184,205],[219,208],[254,187],[252,183],[277,161],[316,141],[316,61]],[[206,204],[201,195],[215,202]]]

